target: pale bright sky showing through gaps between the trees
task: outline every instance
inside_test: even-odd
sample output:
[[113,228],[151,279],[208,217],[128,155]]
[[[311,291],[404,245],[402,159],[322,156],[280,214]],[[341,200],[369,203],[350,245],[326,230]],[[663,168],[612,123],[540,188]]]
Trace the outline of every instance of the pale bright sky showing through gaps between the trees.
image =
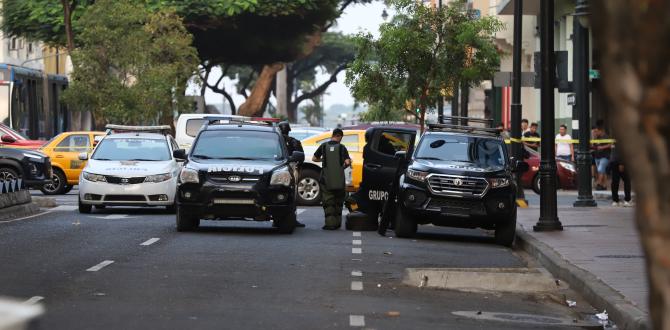
[[[372,33],[375,37],[379,35],[379,25],[383,23],[382,12],[385,8],[383,1],[374,1],[369,4],[354,4],[347,7],[344,14],[338,19],[337,24],[332,27],[332,31],[340,31],[345,34],[356,34],[360,31],[367,31]],[[389,11],[389,14],[391,12]],[[354,103],[349,89],[344,85],[345,72],[341,72],[337,76],[337,82],[330,85],[326,94],[324,95],[324,108],[328,109],[333,104],[350,105]],[[216,83],[221,71],[218,69],[212,70],[210,74],[210,84]],[[319,81],[325,81],[329,78],[328,75],[319,75]],[[234,91],[234,82],[229,79],[224,79],[226,90]],[[188,94],[199,94],[200,91],[196,86],[191,86]],[[236,93],[233,93],[236,94]],[[235,105],[239,106],[244,102],[244,97],[241,95],[234,95]],[[223,96],[216,94],[211,90],[205,92],[205,102],[207,104],[224,103]]]

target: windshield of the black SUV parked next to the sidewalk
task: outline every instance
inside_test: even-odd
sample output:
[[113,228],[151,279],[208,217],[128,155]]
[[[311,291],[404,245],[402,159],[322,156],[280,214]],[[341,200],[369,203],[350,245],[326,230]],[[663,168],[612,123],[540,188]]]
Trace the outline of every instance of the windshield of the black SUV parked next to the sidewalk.
[[416,151],[416,159],[476,164],[482,167],[504,167],[505,146],[496,139],[426,135]]

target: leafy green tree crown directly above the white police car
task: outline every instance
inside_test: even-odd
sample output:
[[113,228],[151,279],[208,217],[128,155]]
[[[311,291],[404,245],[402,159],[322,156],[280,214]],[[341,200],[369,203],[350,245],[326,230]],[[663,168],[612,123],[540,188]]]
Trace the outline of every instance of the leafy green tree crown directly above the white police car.
[[192,38],[174,11],[131,0],[98,0],[79,18],[74,72],[63,100],[107,122],[171,124],[197,69]]

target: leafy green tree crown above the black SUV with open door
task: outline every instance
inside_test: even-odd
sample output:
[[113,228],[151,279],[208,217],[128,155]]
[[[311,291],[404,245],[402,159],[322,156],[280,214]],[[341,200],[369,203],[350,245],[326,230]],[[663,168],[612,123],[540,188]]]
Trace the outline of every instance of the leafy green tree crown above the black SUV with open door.
[[414,0],[389,2],[397,15],[381,26],[378,40],[358,36],[346,83],[357,101],[375,111],[408,112],[423,129],[426,110],[450,98],[449,91],[493,76],[500,63],[493,36],[502,24],[472,18],[463,0],[442,10]]

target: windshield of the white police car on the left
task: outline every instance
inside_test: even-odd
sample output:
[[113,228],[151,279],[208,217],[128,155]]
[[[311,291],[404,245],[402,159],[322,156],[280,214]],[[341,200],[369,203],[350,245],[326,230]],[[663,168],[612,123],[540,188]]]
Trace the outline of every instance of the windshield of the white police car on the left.
[[172,157],[167,141],[162,139],[113,138],[100,141],[91,159],[165,161]]

